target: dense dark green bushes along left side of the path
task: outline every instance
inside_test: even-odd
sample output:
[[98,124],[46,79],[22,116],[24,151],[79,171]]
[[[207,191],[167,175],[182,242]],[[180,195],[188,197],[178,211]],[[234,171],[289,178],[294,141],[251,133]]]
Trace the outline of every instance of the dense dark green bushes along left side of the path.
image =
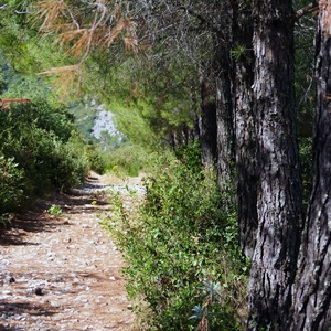
[[0,213],[15,212],[51,185],[67,190],[88,172],[73,118],[44,103],[0,111]]

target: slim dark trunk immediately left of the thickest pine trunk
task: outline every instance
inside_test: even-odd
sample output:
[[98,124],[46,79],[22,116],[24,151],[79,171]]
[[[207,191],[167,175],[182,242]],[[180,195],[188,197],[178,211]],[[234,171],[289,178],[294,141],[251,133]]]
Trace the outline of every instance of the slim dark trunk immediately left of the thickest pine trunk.
[[237,173],[239,241],[244,255],[253,257],[257,229],[257,163],[253,107],[254,53],[252,9],[233,1],[233,95]]

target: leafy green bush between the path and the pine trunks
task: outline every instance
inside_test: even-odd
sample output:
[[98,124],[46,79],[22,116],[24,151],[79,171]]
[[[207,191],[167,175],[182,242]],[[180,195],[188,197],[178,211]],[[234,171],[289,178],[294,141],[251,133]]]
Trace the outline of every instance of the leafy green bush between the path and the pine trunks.
[[[169,156],[154,167],[135,215],[115,195],[104,222],[128,261],[124,274],[128,293],[138,300],[140,324],[237,330],[247,270],[237,247],[235,206],[223,207],[228,196],[220,194],[212,171]],[[220,300],[212,300],[215,296]]]

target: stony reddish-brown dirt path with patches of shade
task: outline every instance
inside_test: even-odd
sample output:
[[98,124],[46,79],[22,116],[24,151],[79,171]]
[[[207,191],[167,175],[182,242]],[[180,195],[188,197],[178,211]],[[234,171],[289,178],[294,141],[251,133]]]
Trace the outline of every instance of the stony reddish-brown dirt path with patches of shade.
[[[100,184],[90,178],[88,193]],[[52,204],[63,216],[43,212]],[[107,209],[90,195],[56,194],[0,233],[0,330],[134,329],[121,255],[98,224]]]

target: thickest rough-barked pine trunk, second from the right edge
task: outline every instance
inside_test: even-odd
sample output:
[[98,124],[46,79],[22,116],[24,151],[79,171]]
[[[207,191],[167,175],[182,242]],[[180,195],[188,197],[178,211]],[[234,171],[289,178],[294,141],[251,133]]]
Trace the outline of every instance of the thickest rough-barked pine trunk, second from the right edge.
[[287,330],[302,225],[289,0],[255,0],[258,228],[248,285],[248,330]]

